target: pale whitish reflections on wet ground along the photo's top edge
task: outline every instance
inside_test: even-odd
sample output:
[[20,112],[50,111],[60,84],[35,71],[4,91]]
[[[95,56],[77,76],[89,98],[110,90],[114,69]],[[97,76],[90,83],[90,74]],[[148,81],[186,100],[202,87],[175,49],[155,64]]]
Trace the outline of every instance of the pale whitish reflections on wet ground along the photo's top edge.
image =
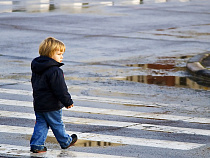
[[147,3],[187,2],[190,0],[91,0],[91,1],[60,1],[60,0],[4,0],[0,1],[2,12],[81,12],[81,9],[93,6],[140,5]]

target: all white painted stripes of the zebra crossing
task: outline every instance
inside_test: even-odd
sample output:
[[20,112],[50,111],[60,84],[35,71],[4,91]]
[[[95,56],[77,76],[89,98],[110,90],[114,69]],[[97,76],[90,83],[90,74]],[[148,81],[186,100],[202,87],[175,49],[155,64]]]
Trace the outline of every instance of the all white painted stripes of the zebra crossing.
[[[4,82],[3,80],[0,83]],[[5,83],[15,84],[15,81],[5,81]],[[26,84],[25,82],[18,82],[18,84]],[[28,83],[27,83],[28,84]],[[29,85],[29,84],[28,84]],[[21,95],[29,97],[32,95],[32,92],[29,90],[20,90],[13,88],[0,88],[0,94],[11,94],[11,95]],[[3,95],[0,95],[3,96]],[[135,105],[147,105],[149,107],[156,106],[168,106],[167,104],[156,104],[150,102],[140,102],[137,100],[125,100],[125,99],[113,99],[106,97],[91,97],[91,96],[77,96],[72,95],[73,100],[79,101],[88,101],[88,102],[102,102],[109,104],[128,104],[132,103]],[[18,112],[15,111],[15,107],[27,107],[33,108],[32,101],[22,101],[13,98],[4,98],[0,97],[0,107],[5,107],[0,110],[0,118],[17,118],[17,119],[27,119],[35,120],[34,113],[32,112]],[[14,107],[13,110],[8,110],[7,107]],[[143,118],[143,119],[154,119],[154,120],[166,120],[166,121],[182,121],[185,123],[194,123],[194,124],[210,124],[209,118],[201,117],[189,117],[189,116],[178,116],[178,115],[168,115],[168,114],[155,114],[155,113],[145,113],[138,111],[128,111],[128,110],[118,110],[118,109],[106,109],[106,108],[96,108],[96,107],[85,107],[85,106],[76,106],[71,109],[63,109],[65,111],[72,111],[75,113],[86,113],[86,114],[98,114],[98,115],[108,115],[116,117],[113,120],[103,120],[103,119],[91,119],[91,118],[82,118],[82,117],[70,117],[63,116],[63,121],[65,124],[77,124],[77,125],[87,125],[87,126],[101,126],[101,127],[118,127],[126,130],[137,130],[137,131],[148,131],[148,132],[158,132],[158,133],[171,133],[171,134],[187,134],[194,136],[210,136],[210,130],[201,129],[201,128],[192,128],[192,127],[175,127],[169,125],[157,125],[153,123],[138,123],[138,122],[126,122],[119,121],[117,119],[120,117],[131,117],[131,118]],[[31,110],[32,111],[32,110]],[[25,136],[30,136],[33,132],[32,127],[25,126],[16,126],[16,125],[5,125],[0,123],[0,133],[7,134],[20,134]],[[99,134],[94,132],[78,132],[78,131],[67,131],[68,133],[76,133],[79,136],[80,140],[85,141],[96,141],[96,142],[109,142],[112,144],[122,144],[122,145],[131,145],[131,146],[144,146],[144,147],[153,147],[160,149],[173,149],[180,151],[193,150],[200,147],[204,147],[206,144],[201,142],[186,142],[178,140],[164,140],[164,139],[151,139],[151,138],[136,138],[131,136],[120,136],[120,135],[111,135],[111,134]],[[49,131],[48,137],[53,137],[52,131]],[[56,157],[59,154],[64,154],[64,157],[110,157],[108,154],[98,154],[91,152],[78,152],[78,151],[63,151],[63,150],[53,150],[49,149],[50,152],[46,154],[33,154],[29,152],[29,147],[27,146],[18,146],[17,144],[3,144],[0,141],[0,155],[19,155],[19,156],[34,156],[34,157]],[[111,157],[122,157],[118,155],[111,155]]]

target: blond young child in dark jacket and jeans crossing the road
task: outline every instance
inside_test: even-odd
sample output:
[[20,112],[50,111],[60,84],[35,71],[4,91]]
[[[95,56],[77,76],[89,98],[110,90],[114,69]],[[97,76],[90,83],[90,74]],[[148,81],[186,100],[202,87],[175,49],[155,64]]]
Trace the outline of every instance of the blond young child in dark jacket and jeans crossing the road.
[[44,146],[49,127],[52,129],[62,149],[67,149],[77,141],[77,135],[69,136],[62,121],[62,108],[73,107],[71,95],[64,80],[60,66],[64,65],[63,42],[49,37],[39,46],[40,56],[31,63],[33,104],[36,124],[30,140],[31,151],[46,152]]

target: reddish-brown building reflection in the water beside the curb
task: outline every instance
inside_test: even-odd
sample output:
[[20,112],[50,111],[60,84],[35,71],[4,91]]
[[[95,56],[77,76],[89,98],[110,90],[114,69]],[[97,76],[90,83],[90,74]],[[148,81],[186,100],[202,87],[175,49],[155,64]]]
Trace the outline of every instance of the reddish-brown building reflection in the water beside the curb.
[[170,63],[167,64],[130,64],[127,66],[141,67],[147,70],[159,70],[159,72],[156,72],[158,75],[134,75],[122,78],[127,81],[141,82],[146,84],[156,84],[159,86],[175,86],[197,90],[210,90],[210,87],[199,85],[195,81],[189,79],[188,77],[167,75],[166,72],[168,71],[174,72],[181,69],[175,66],[175,62],[173,60],[170,60]]

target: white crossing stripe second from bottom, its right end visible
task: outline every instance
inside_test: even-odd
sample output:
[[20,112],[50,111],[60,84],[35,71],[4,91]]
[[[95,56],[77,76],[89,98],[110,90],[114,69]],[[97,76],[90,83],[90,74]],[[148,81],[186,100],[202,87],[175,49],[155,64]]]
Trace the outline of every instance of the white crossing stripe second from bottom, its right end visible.
[[[33,133],[33,128],[0,125],[0,132],[31,135]],[[81,133],[74,131],[67,131],[67,132],[77,134],[79,139],[82,140],[104,141],[104,142],[118,143],[118,144],[168,148],[168,149],[177,149],[177,150],[191,150],[205,145],[205,144],[189,143],[189,142],[113,136],[113,135],[103,135],[95,133]],[[54,137],[51,130],[49,130],[48,136]]]

